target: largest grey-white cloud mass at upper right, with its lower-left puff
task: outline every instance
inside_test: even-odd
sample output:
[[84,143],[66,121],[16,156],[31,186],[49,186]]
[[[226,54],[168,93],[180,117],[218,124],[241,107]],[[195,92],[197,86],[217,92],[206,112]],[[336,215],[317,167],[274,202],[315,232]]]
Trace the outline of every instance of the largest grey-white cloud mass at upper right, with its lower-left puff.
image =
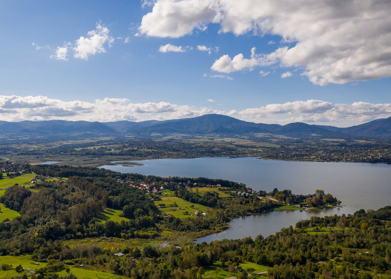
[[[280,36],[289,48],[260,56],[304,67],[302,75],[323,86],[391,77],[390,13],[389,0],[158,0],[139,33],[179,38],[217,23],[220,32],[237,36]],[[238,54],[222,56],[212,68],[228,73],[263,65]]]

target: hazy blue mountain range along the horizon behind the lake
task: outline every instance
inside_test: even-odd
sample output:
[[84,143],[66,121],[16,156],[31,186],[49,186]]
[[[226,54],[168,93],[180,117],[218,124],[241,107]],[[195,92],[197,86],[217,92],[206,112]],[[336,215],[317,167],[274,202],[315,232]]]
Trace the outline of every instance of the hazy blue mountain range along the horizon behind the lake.
[[357,126],[338,128],[334,126],[309,125],[296,122],[287,125],[253,123],[221,114],[205,114],[195,118],[175,120],[148,120],[142,122],[88,122],[88,121],[0,121],[0,134],[29,134],[40,136],[99,134],[121,136],[126,134],[254,134],[270,133],[287,136],[322,136],[342,138],[387,138],[391,137],[391,117],[373,120]]

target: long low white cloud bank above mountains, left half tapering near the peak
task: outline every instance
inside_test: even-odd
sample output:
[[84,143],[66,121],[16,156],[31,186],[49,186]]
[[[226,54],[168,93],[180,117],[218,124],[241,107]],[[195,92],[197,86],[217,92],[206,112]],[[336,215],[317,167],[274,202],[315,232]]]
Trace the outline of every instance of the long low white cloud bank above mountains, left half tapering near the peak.
[[104,98],[95,102],[63,101],[45,96],[0,96],[0,120],[86,120],[119,121],[173,119],[222,113],[206,107],[170,104],[168,102],[131,103],[126,98]]

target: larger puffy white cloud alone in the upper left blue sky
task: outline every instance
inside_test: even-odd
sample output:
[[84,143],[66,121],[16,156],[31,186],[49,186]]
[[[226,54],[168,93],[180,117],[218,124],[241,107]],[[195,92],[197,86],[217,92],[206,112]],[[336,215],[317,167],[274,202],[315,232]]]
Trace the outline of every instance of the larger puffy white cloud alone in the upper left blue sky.
[[106,52],[104,45],[107,43],[111,47],[114,42],[109,32],[106,26],[97,23],[96,29],[87,33],[88,37],[81,36],[76,40],[74,57],[87,60],[90,55]]

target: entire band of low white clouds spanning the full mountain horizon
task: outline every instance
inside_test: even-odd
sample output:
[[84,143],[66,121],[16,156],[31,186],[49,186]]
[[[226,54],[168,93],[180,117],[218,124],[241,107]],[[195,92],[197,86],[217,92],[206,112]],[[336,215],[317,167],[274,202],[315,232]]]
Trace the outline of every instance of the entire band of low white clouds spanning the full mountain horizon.
[[[208,99],[212,104],[214,101]],[[267,104],[242,110],[221,111],[208,107],[171,104],[169,102],[132,103],[126,98],[104,98],[95,102],[63,101],[45,96],[0,96],[0,120],[167,120],[201,116],[208,113],[230,115],[257,123],[307,122],[349,126],[391,116],[391,104],[332,104],[323,100],[306,100]]]

